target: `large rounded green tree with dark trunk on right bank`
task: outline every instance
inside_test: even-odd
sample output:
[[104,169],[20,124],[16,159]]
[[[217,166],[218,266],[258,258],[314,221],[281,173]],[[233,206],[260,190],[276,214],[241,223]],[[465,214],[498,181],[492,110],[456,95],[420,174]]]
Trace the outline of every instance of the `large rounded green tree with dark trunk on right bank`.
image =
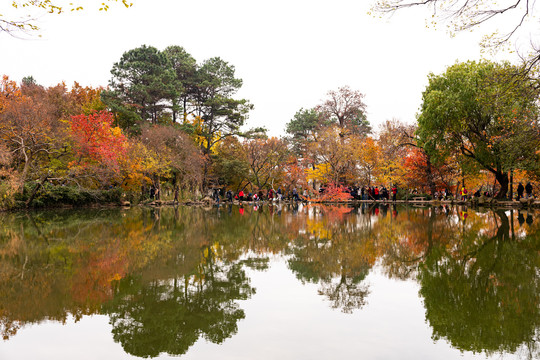
[[429,76],[418,136],[435,157],[455,154],[491,172],[508,191],[512,169],[538,171],[538,90],[513,77],[516,67],[489,61],[457,63]]

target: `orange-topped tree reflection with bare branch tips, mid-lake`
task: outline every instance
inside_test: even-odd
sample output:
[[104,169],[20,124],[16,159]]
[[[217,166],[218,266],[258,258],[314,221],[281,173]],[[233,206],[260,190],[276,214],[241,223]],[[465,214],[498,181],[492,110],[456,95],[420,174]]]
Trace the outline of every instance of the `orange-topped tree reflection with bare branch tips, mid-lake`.
[[338,213],[307,221],[306,234],[293,242],[289,268],[302,282],[319,283],[319,295],[332,308],[350,313],[366,304],[369,289],[362,281],[375,262],[376,247],[362,236],[366,233],[357,232],[351,209],[344,209],[327,207],[324,211]]

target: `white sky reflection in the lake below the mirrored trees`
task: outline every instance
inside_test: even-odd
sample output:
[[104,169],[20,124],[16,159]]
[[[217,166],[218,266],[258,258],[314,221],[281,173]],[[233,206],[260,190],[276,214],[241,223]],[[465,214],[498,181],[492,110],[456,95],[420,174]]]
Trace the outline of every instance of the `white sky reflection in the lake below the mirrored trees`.
[[[238,333],[221,345],[199,339],[181,359],[486,358],[460,353],[444,340],[434,342],[418,284],[390,280],[378,266],[364,280],[367,304],[352,314],[331,309],[317,295],[318,285],[302,285],[280,257],[272,257],[267,271],[249,270],[248,276],[257,291],[239,301],[246,317]],[[2,360],[134,358],[113,341],[108,317],[102,315],[27,326],[0,346]],[[159,356],[173,358],[178,359]]]

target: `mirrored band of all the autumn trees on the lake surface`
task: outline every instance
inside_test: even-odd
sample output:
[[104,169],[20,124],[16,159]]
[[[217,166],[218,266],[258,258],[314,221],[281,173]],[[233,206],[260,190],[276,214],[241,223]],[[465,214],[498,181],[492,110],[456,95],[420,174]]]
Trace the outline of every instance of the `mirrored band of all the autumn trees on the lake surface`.
[[[2,214],[0,331],[106,314],[127,353],[221,343],[283,258],[339,311],[370,301],[375,267],[415,280],[433,339],[538,357],[540,221],[532,211],[262,205]],[[314,294],[314,296],[317,296]]]

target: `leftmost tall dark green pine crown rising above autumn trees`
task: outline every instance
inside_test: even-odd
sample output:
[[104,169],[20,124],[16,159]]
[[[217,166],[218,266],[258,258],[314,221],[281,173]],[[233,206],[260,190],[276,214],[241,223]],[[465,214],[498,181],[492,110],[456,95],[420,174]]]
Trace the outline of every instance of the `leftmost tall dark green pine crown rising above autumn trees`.
[[113,65],[111,74],[110,90],[103,91],[102,98],[119,114],[123,128],[141,120],[157,124],[170,100],[178,94],[171,63],[152,46],[125,52]]

